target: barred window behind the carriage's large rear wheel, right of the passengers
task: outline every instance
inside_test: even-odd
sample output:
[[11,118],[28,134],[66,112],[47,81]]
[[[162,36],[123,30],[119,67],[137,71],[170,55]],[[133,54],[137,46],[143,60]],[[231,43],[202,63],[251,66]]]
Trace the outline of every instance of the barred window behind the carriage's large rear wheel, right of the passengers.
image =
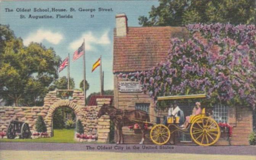
[[222,122],[222,123],[227,123],[228,118],[229,118],[229,107],[225,106],[223,104],[216,104],[214,105],[213,109],[213,118],[216,120],[217,123]]

